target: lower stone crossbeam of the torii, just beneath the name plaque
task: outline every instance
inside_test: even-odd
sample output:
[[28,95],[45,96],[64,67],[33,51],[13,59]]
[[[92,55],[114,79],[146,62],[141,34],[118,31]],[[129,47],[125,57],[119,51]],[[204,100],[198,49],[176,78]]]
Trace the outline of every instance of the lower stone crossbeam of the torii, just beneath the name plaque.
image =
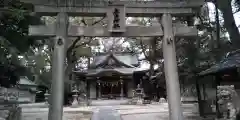
[[[173,28],[174,36],[176,37],[191,37],[197,35],[197,29],[195,27],[188,26],[175,26]],[[56,36],[56,25],[48,26],[30,26],[29,35],[35,37],[54,37]],[[69,37],[154,37],[163,36],[163,30],[161,26],[127,26],[126,32],[119,34],[112,34],[108,31],[108,27],[100,26],[69,26]]]

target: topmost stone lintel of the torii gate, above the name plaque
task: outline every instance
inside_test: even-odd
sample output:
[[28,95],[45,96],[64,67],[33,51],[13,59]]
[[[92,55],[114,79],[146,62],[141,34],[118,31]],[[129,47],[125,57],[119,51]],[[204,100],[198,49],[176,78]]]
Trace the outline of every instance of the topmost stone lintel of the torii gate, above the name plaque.
[[[34,11],[44,16],[56,16],[65,11],[69,16],[104,16],[109,5],[121,4],[126,7],[127,17],[153,17],[163,13],[189,15],[198,11],[204,0],[158,0],[158,1],[107,1],[107,0],[21,0],[33,3]],[[67,6],[67,7],[66,7]]]

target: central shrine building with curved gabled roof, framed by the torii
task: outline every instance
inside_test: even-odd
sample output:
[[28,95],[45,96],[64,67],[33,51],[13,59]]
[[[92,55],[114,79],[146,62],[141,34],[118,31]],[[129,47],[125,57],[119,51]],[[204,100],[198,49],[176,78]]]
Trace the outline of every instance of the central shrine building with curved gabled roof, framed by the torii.
[[110,52],[94,56],[87,71],[74,73],[78,80],[85,82],[89,99],[130,98],[140,84],[133,76],[142,76],[148,71],[139,66],[136,54]]

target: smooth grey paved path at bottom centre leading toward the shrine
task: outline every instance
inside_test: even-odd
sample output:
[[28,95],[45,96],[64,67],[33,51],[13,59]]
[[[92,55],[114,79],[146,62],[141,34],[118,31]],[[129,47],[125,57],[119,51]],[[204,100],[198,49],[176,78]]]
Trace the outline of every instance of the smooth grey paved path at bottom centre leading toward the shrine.
[[94,111],[91,120],[121,120],[121,116],[113,107],[99,107]]

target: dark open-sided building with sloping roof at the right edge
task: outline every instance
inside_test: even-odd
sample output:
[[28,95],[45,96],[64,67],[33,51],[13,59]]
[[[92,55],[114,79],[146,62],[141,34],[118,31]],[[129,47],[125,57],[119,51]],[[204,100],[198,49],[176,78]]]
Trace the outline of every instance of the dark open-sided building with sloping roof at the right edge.
[[[233,85],[240,95],[240,50],[226,54],[218,63],[199,73],[197,82],[198,101],[201,115],[215,114],[212,106],[216,104],[218,86]],[[238,104],[240,104],[238,102]]]

